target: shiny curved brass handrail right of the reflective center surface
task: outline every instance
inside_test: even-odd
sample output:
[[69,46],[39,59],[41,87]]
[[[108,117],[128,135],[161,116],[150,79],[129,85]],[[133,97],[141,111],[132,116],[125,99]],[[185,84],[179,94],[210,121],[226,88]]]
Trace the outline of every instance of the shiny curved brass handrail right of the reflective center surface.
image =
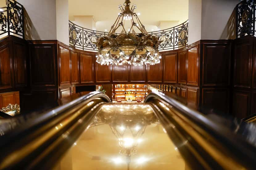
[[[227,127],[231,124],[227,120],[217,115],[212,116],[213,120],[161,92],[150,93],[144,102],[155,109],[161,124],[192,169],[198,169],[199,164],[202,169],[252,169],[256,166],[254,125]],[[247,136],[238,133],[239,129]]]

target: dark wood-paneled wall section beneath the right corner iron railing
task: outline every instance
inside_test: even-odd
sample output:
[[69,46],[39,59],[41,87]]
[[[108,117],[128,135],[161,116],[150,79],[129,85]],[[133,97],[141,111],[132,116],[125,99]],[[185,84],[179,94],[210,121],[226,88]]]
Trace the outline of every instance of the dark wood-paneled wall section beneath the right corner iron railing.
[[234,40],[233,114],[245,118],[256,113],[256,38]]

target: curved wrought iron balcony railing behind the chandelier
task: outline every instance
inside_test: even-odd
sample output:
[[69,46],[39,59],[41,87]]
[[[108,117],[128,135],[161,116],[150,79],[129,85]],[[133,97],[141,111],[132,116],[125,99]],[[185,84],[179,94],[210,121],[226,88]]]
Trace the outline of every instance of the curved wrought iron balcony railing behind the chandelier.
[[[108,33],[83,28],[69,21],[69,45],[81,50],[97,51],[96,44],[91,41],[92,36],[96,38],[106,36]],[[174,50],[188,45],[188,20],[172,28],[150,32],[163,42],[159,51]]]

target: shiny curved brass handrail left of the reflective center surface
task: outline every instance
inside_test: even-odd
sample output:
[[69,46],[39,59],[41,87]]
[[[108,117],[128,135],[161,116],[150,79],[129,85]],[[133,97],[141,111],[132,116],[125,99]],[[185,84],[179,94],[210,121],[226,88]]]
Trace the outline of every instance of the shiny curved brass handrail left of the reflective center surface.
[[[0,169],[52,168],[105,102],[111,102],[109,97],[94,91],[27,122],[24,116],[4,120],[0,124]],[[17,126],[6,129],[13,122]]]

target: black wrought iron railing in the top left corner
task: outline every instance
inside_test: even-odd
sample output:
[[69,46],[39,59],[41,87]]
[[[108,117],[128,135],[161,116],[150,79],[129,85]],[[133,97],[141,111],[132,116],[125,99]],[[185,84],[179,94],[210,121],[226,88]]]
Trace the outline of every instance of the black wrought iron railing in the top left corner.
[[0,10],[0,36],[15,35],[24,38],[23,6],[14,0],[6,0]]

